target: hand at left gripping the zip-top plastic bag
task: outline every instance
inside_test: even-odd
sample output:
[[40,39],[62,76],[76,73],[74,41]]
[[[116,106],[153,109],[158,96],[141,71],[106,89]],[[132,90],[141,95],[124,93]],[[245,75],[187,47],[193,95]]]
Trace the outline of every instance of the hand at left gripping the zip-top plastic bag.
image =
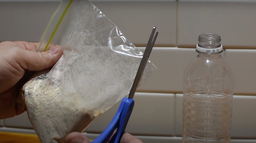
[[48,69],[62,55],[60,46],[46,52],[35,52],[36,45],[25,41],[0,43],[0,119],[11,118],[25,111],[15,106],[19,89],[26,82],[21,80],[25,71]]

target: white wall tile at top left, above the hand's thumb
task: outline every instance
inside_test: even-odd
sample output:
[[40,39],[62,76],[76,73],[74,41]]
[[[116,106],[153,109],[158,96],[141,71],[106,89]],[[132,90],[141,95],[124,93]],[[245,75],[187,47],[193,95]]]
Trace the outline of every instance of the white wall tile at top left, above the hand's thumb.
[[[60,2],[1,2],[0,42],[38,42]],[[3,14],[4,13],[4,14]]]

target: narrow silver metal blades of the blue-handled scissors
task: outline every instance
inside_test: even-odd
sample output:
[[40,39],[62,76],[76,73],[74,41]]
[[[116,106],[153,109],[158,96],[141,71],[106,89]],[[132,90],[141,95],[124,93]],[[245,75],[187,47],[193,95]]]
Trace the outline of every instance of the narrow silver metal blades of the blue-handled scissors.
[[[154,47],[155,41],[156,41],[157,36],[158,36],[158,32],[157,32],[155,37],[154,37],[155,31],[156,31],[156,27],[153,28],[152,33],[150,35],[150,38],[148,40],[146,49],[144,51],[143,57],[141,59],[141,62],[139,64],[139,69],[138,69],[137,74],[135,76],[135,79],[134,79],[134,82],[133,82],[133,85],[132,85],[132,88],[130,90],[128,98],[133,98],[134,97],[135,91],[136,91],[136,89],[138,87],[138,84],[139,84],[140,77],[142,75],[142,72],[145,69],[145,66],[147,64],[148,58],[150,56],[150,53],[151,53],[151,51],[152,51],[152,49]],[[154,40],[153,40],[153,37],[154,37]]]

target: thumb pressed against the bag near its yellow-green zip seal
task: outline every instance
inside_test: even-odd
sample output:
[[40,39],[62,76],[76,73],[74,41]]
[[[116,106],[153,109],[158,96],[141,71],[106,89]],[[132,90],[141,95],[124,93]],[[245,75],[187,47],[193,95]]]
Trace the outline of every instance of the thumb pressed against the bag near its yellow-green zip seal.
[[52,67],[63,54],[60,46],[56,45],[46,52],[24,50],[20,55],[20,66],[29,71],[41,71]]

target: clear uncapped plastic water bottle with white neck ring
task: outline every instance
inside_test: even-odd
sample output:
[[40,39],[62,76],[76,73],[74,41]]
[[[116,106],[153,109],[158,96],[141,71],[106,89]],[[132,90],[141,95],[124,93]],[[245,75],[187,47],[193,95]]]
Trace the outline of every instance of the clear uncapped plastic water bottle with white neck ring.
[[217,34],[202,34],[183,73],[182,143],[229,143],[234,72]]

